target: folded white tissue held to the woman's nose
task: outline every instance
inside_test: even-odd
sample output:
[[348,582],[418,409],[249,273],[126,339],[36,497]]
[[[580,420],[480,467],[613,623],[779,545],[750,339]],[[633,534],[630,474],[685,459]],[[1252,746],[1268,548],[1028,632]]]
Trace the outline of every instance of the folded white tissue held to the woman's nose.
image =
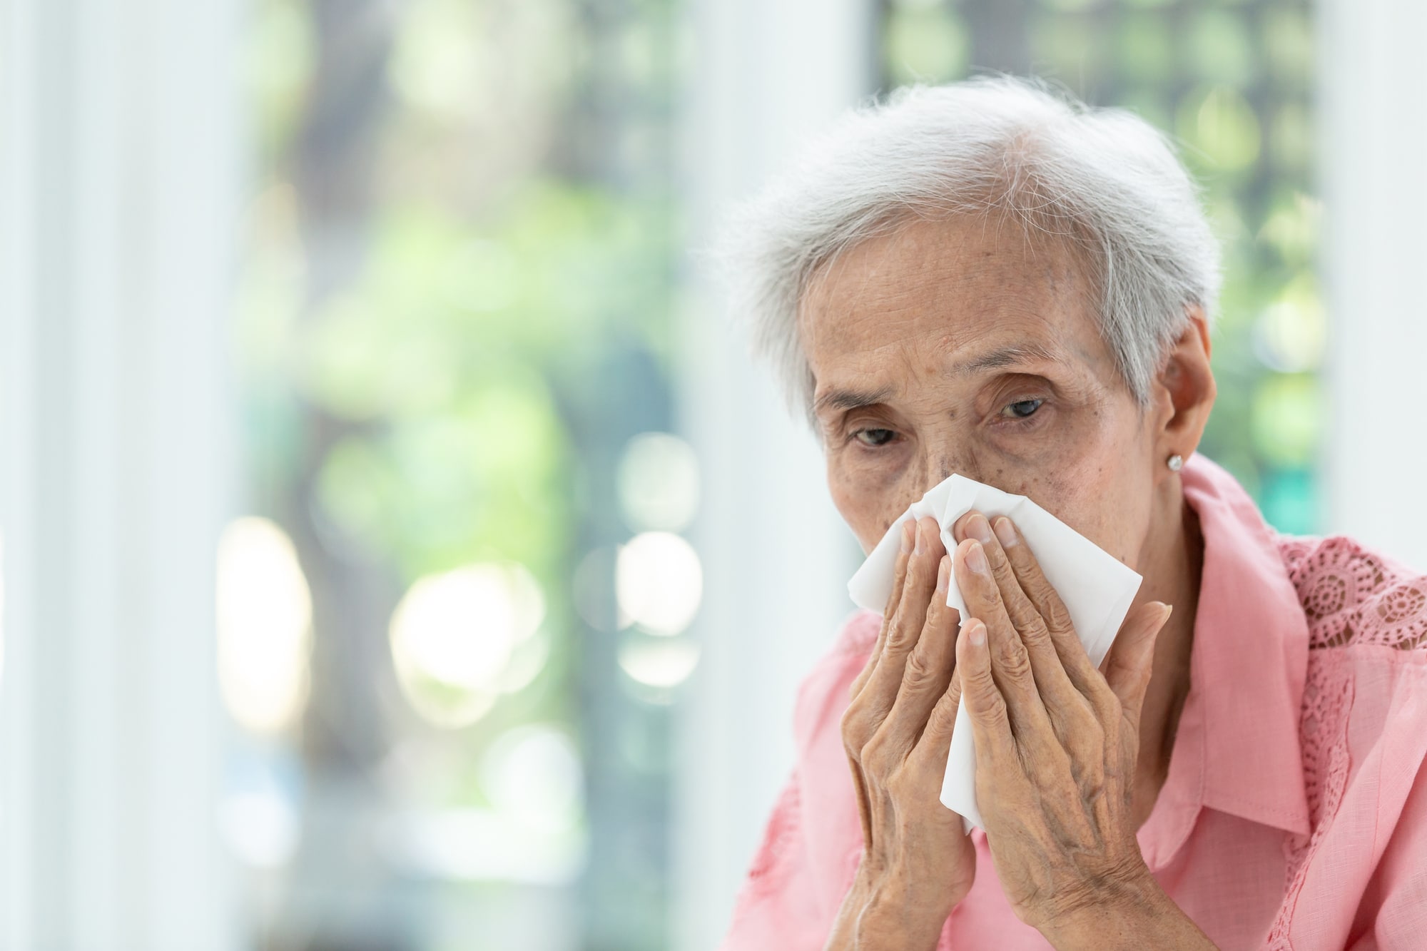
[[[886,610],[900,548],[902,523],[932,515],[942,525],[942,544],[948,551],[955,551],[952,525],[972,508],[989,520],[1006,515],[1016,524],[1046,580],[1065,601],[1086,654],[1099,665],[1134,601],[1140,575],[1025,495],[1012,495],[965,476],[952,476],[928,490],[920,501],[912,503],[888,528],[878,547],[848,581],[852,600],[879,614]],[[946,604],[956,608],[962,620],[968,617],[955,574],[946,593]],[[942,804],[962,815],[968,832],[982,825],[976,810],[976,748],[972,744],[966,707],[956,711],[946,777],[942,781]]]

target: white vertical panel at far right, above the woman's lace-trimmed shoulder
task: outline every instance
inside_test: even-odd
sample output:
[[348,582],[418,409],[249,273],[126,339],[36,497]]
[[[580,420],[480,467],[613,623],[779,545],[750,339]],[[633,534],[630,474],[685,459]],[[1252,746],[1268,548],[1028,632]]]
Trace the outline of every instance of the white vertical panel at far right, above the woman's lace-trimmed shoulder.
[[1317,16],[1329,527],[1427,571],[1427,4]]

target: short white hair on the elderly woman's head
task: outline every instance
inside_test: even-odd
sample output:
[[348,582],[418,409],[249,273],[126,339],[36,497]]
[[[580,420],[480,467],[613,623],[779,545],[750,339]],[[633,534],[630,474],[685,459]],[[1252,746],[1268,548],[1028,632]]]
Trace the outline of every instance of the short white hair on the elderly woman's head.
[[811,418],[798,306],[813,274],[859,241],[946,214],[1007,216],[1070,244],[1140,406],[1187,308],[1213,316],[1219,243],[1153,126],[1035,80],[903,87],[843,114],[731,216],[715,248],[733,313],[751,323],[791,407]]

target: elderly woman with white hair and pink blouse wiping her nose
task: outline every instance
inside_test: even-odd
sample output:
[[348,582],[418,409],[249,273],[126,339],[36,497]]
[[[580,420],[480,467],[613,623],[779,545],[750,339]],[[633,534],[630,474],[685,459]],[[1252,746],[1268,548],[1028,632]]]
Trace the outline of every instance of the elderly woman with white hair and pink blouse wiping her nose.
[[1276,533],[1194,454],[1219,251],[1164,139],[1017,80],[902,90],[729,234],[863,550],[960,473],[1144,581],[1097,668],[1009,520],[900,525],[723,948],[1427,948],[1427,578]]

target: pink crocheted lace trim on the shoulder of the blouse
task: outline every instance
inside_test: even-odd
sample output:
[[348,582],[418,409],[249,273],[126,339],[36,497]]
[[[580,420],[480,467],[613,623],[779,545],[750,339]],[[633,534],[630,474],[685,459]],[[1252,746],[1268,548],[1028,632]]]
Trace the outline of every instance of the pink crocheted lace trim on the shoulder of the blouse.
[[1309,621],[1309,647],[1427,647],[1427,575],[1351,538],[1279,537]]

